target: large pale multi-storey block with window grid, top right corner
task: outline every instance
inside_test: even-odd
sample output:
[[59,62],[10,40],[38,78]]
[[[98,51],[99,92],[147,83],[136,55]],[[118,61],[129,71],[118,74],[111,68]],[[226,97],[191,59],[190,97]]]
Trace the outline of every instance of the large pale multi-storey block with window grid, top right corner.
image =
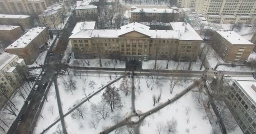
[[197,0],[195,11],[203,14],[256,14],[255,0]]

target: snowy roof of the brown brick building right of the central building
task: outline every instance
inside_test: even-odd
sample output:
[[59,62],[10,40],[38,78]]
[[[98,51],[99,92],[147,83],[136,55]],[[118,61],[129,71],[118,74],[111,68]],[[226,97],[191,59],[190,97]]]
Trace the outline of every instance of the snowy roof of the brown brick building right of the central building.
[[219,35],[221,35],[224,39],[229,41],[229,43],[231,44],[247,44],[247,45],[253,44],[232,30],[217,30],[216,32],[219,33]]

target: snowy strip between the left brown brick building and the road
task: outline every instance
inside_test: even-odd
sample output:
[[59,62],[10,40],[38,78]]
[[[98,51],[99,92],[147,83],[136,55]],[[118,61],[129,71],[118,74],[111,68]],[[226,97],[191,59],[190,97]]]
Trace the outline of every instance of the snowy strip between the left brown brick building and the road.
[[56,39],[56,35],[53,36],[53,39],[49,39],[47,41],[48,46],[43,46],[43,51],[38,54],[37,59],[34,61],[33,64],[27,65],[27,67],[40,67],[40,65],[43,65],[45,62],[47,51],[50,49],[51,45],[53,44],[53,41]]

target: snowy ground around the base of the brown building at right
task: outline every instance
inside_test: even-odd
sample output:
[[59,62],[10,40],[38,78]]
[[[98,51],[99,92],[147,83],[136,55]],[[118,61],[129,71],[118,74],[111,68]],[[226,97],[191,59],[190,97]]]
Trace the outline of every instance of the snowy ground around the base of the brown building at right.
[[[216,64],[220,64],[220,63],[225,63],[221,57],[219,57],[219,55],[214,51],[214,49],[212,49],[211,46],[210,50],[208,52],[208,55],[206,56],[206,59],[209,62],[209,65],[211,66],[211,68],[214,68],[216,66]],[[252,56],[250,55],[250,57],[255,57],[255,52],[252,53]],[[230,72],[255,72],[256,68],[251,69],[251,67],[247,67],[247,66],[236,66],[236,67],[228,67],[228,66],[218,66],[217,69],[218,71],[230,71]]]

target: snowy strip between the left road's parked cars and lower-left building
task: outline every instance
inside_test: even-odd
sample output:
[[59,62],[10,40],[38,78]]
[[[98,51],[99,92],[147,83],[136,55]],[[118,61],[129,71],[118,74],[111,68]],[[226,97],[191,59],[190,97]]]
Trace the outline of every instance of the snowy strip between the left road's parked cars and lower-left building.
[[[15,105],[15,108],[13,107],[12,109],[16,115],[19,114],[19,111],[21,110],[22,106],[24,105],[25,100],[27,99],[27,96],[29,95],[34,84],[35,84],[35,82],[33,82],[33,83],[29,82],[29,84],[27,82],[24,82],[24,84],[20,88],[18,88],[15,91],[15,93],[13,93],[13,95],[11,96],[10,100]],[[31,86],[31,88],[29,87],[29,85]],[[4,125],[3,122],[0,121],[0,126],[1,126],[1,128],[3,127],[3,129],[5,129],[5,131],[8,131],[8,129],[11,126],[11,124],[13,123],[13,121],[15,121],[15,119],[17,118],[17,116],[14,116],[12,114],[7,114],[7,113],[10,113],[10,112],[8,110],[6,110],[6,108],[1,109],[1,111],[0,111],[1,120],[5,121],[5,124],[7,125],[7,126]],[[0,134],[6,134],[3,131],[3,129],[0,129]]]

